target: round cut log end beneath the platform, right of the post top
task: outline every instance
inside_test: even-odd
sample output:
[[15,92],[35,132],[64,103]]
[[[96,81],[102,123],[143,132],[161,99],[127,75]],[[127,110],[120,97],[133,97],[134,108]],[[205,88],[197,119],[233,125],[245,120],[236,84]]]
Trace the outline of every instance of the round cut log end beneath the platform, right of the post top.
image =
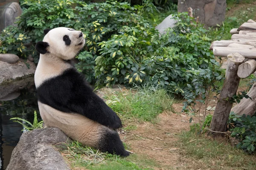
[[247,60],[239,65],[237,75],[240,78],[246,78],[256,71],[256,61],[254,59]]

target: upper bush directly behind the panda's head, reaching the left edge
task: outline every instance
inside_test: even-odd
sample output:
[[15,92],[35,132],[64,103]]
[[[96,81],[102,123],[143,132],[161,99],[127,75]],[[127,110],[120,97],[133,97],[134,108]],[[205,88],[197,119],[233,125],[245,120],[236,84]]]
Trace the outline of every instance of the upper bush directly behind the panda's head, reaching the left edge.
[[[39,56],[34,52],[34,46],[43,39],[45,28],[63,26],[81,30],[86,38],[86,47],[78,56],[80,63],[76,67],[87,75],[89,82],[93,82],[94,59],[99,50],[97,43],[108,40],[123,26],[149,26],[142,15],[154,11],[154,5],[150,0],[143,2],[143,6],[131,7],[128,3],[114,0],[90,4],[79,0],[41,0],[40,3],[38,0],[21,0],[23,13],[17,20],[18,28],[6,28],[0,35],[0,50],[25,58],[32,54],[35,62],[38,62]],[[27,50],[24,44],[30,41],[31,48]]]

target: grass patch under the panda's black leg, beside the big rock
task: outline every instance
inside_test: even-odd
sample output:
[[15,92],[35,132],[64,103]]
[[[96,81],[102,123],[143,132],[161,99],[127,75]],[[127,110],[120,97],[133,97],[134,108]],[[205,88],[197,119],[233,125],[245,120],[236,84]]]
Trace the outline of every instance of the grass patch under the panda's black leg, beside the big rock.
[[[83,146],[76,141],[58,145],[56,148],[61,152],[71,168],[81,167],[87,170],[151,170],[145,169],[143,166],[139,167],[134,163],[137,158],[136,154],[122,158]],[[145,159],[142,159],[142,162],[151,162],[149,165],[152,164],[152,161],[145,161]],[[143,165],[145,166],[145,164]]]

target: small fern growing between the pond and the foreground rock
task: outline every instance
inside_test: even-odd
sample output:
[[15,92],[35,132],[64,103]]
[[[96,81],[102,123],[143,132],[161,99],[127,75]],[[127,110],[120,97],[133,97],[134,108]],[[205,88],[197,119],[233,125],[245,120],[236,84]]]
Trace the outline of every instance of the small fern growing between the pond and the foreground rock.
[[[43,128],[43,122],[44,122],[44,121],[38,122],[36,111],[34,112],[33,124],[30,123],[29,121],[25,120],[25,119],[20,118],[20,117],[13,117],[10,120],[14,120],[13,122],[17,122],[20,125],[22,125],[24,127],[24,129],[22,131],[30,131],[30,130],[34,130],[34,129],[41,129],[41,128]],[[25,123],[23,123],[23,122],[25,122]]]

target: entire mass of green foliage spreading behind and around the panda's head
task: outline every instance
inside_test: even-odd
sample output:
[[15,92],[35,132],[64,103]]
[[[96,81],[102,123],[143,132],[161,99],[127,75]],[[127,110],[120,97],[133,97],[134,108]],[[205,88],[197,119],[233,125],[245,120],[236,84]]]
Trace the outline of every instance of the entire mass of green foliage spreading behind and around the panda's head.
[[[43,39],[45,28],[80,29],[84,32],[86,46],[77,56],[76,67],[90,83],[161,85],[184,95],[189,89],[186,84],[191,84],[198,74],[196,70],[204,71],[215,65],[209,51],[209,31],[201,25],[196,26],[193,18],[182,13],[176,15],[179,20],[175,28],[159,36],[143,17],[155,11],[151,0],[143,0],[142,6],[133,7],[114,0],[90,4],[79,0],[20,2],[23,14],[17,21],[18,28],[8,28],[13,34],[11,37],[16,38],[15,43],[8,40],[8,34],[1,35],[0,39],[4,37],[2,51],[5,49],[5,52],[24,57],[31,53],[38,62],[34,45]],[[20,32],[24,34],[24,42],[19,42]],[[29,41],[31,47],[23,49],[22,45]],[[15,49],[21,50],[15,53]]]

